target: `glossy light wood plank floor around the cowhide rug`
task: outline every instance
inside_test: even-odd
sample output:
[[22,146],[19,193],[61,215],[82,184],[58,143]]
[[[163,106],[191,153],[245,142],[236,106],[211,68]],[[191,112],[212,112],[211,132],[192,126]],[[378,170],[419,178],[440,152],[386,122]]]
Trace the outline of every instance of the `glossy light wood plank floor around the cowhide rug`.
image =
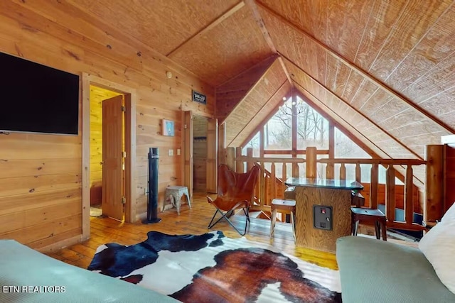
[[[207,225],[212,219],[215,208],[208,204],[205,194],[202,193],[194,194],[191,206],[192,209],[189,209],[188,204],[183,204],[180,215],[177,214],[175,208],[159,212],[161,222],[158,224],[129,224],[109,218],[91,217],[89,240],[47,255],[80,268],[87,268],[95,255],[96,248],[105,243],[132,245],[146,240],[148,231],[161,231],[168,234],[208,232]],[[245,224],[245,216],[235,215],[231,219],[239,229]],[[234,228],[224,220],[215,225],[212,230],[223,231],[225,236],[230,238],[240,237]],[[272,244],[279,250],[302,260],[331,269],[338,268],[335,255],[332,253],[296,247],[290,224],[277,223],[273,241],[269,238],[269,231],[269,220],[252,218],[245,237],[251,241]]]

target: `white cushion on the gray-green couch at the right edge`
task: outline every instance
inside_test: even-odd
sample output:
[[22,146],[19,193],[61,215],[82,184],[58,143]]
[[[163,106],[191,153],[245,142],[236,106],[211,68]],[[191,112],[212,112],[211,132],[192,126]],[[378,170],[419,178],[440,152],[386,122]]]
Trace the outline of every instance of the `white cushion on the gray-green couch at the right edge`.
[[455,204],[423,236],[419,248],[432,263],[441,282],[455,294]]

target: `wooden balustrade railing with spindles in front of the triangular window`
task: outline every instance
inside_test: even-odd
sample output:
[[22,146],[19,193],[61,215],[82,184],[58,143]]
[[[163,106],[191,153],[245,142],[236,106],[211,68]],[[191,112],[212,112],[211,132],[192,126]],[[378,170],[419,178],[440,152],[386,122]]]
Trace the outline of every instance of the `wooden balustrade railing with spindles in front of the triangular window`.
[[[247,149],[247,155],[241,154],[240,148],[237,150],[226,150],[226,162],[231,167],[235,167],[237,172],[245,172],[252,165],[259,165],[262,173],[259,175],[257,184],[257,203],[252,206],[252,210],[269,211],[270,203],[274,198],[283,197],[285,189],[284,181],[287,177],[300,177],[300,168],[305,167],[305,175],[302,177],[317,178],[318,172],[325,169],[325,177],[333,179],[335,177],[335,167],[338,167],[338,178],[346,180],[346,165],[355,165],[355,180],[361,181],[360,165],[371,165],[370,182],[368,184],[369,192],[365,194],[368,198],[367,206],[370,208],[378,208],[379,188],[382,184],[378,182],[379,166],[386,167],[385,178],[385,212],[387,216],[387,227],[399,228],[411,231],[423,230],[424,226],[413,222],[414,212],[421,211],[419,206],[418,194],[416,187],[413,184],[413,168],[417,165],[425,165],[426,161],[417,159],[317,159],[316,148],[306,149],[306,159],[304,158],[261,158],[253,157],[252,149]],[[277,175],[277,166],[281,167],[281,174]],[[290,167],[288,167],[290,166]],[[404,185],[395,184],[397,176],[396,168],[405,172]],[[319,168],[319,170],[318,170]],[[348,180],[350,181],[350,180]],[[361,183],[361,182],[360,182]],[[396,189],[404,187],[401,192],[404,192],[403,206],[405,221],[395,220],[395,209],[397,208]],[[381,199],[382,200],[382,199]]]

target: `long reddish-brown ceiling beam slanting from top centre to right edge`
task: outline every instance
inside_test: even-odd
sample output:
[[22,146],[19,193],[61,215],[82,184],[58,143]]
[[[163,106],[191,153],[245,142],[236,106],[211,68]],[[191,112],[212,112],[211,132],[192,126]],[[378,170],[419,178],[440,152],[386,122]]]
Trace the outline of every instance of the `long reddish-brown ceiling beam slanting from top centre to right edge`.
[[[432,120],[434,121],[435,123],[437,123],[439,126],[441,126],[442,128],[444,128],[446,131],[449,131],[451,133],[455,133],[455,128],[451,128],[450,126],[446,125],[446,123],[444,123],[443,121],[441,121],[437,116],[434,116],[433,114],[430,114],[429,112],[427,111],[424,111],[422,108],[420,108],[419,106],[417,106],[417,104],[414,104],[414,102],[412,102],[410,99],[407,99],[407,97],[405,97],[404,95],[400,94],[400,92],[396,92],[395,90],[391,89],[390,87],[388,87],[386,84],[380,82],[378,79],[376,79],[375,77],[373,77],[372,75],[368,74],[368,72],[365,72],[364,70],[362,70],[360,67],[358,67],[357,65],[355,65],[353,62],[350,62],[348,59],[346,59],[345,57],[343,57],[343,55],[341,54],[338,54],[336,53],[335,50],[332,50],[331,48],[329,48],[327,45],[325,45],[324,43],[322,43],[321,41],[319,41],[318,39],[314,38],[313,35],[311,35],[310,33],[307,33],[304,29],[302,28],[299,28],[299,26],[296,26],[294,23],[292,23],[291,21],[289,21],[287,18],[285,18],[284,16],[280,15],[279,13],[277,13],[276,11],[274,11],[273,9],[270,9],[268,6],[266,6],[265,4],[262,4],[261,1],[257,0],[256,1],[256,5],[257,6],[260,6],[262,9],[264,9],[265,11],[267,11],[268,13],[272,14],[275,18],[278,18],[279,21],[282,21],[283,23],[286,23],[287,25],[291,26],[291,28],[294,28],[294,30],[298,31],[299,33],[302,33],[303,35],[305,35],[306,38],[308,38],[309,40],[311,40],[312,42],[316,43],[317,45],[319,45],[319,47],[321,47],[323,50],[326,51],[326,53],[328,53],[328,55],[331,55],[332,57],[334,57],[336,60],[339,60],[341,62],[343,62],[344,65],[350,67],[351,70],[354,70],[355,72],[357,72],[359,75],[361,75],[364,79],[368,80],[369,82],[371,82],[372,84],[375,84],[377,85],[378,87],[380,87],[380,89],[383,89],[385,92],[387,92],[387,94],[390,95],[390,97],[395,97],[397,99],[400,99],[402,101],[404,101],[406,104],[408,104],[409,106],[412,106],[412,108],[414,108],[415,110],[419,111],[420,114],[424,115],[425,117],[427,117],[427,119],[429,120]],[[278,52],[279,53],[279,52]],[[294,62],[293,62],[294,63]],[[295,64],[294,64],[295,65]],[[343,101],[343,99],[341,99]]]

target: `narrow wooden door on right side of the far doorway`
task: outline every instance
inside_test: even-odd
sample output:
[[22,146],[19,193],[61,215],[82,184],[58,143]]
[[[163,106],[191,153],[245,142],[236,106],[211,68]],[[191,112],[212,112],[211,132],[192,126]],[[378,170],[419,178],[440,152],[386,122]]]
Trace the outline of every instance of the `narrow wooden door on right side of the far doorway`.
[[218,119],[207,120],[207,192],[217,192],[218,184]]

